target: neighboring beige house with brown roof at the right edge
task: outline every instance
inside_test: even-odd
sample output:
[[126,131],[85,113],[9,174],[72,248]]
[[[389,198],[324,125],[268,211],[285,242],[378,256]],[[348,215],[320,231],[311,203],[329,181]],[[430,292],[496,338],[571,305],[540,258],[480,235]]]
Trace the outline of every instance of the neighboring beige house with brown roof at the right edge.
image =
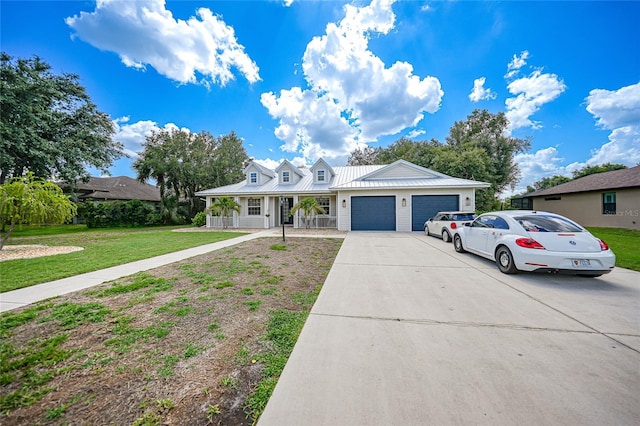
[[640,166],[584,176],[511,205],[558,213],[583,226],[640,229]]

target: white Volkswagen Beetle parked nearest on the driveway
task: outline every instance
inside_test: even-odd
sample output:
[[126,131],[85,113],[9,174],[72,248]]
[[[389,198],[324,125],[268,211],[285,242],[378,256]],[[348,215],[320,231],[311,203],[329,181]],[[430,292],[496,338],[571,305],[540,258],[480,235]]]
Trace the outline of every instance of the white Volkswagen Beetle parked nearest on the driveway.
[[569,272],[599,277],[615,266],[607,244],[555,213],[506,210],[485,213],[456,229],[453,246],[493,260],[505,274]]

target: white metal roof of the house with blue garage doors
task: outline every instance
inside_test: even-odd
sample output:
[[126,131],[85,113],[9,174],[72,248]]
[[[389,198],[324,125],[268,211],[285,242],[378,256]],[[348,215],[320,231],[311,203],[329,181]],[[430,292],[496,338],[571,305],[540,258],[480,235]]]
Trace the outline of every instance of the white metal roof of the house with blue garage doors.
[[243,181],[233,185],[200,191],[197,192],[196,195],[329,194],[338,190],[370,190],[380,188],[487,188],[490,186],[485,182],[443,175],[442,173],[417,166],[404,160],[398,160],[393,164],[383,166],[341,166],[333,167],[331,170],[333,171],[333,175],[327,182],[314,182],[312,171],[300,169],[303,177],[295,185],[282,185],[279,184],[277,179],[269,180],[259,186],[247,185],[246,181]]

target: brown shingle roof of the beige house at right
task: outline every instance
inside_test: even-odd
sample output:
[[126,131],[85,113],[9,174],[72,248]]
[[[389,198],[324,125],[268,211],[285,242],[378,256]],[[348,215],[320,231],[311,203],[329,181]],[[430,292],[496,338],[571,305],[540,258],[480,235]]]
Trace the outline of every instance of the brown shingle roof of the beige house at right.
[[595,173],[541,191],[524,194],[522,197],[539,197],[634,187],[640,187],[640,166]]

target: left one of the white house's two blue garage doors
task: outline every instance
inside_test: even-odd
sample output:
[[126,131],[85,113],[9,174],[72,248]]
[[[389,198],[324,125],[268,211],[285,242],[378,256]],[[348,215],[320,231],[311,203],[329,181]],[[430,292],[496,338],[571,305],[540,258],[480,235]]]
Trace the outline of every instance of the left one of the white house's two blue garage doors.
[[352,197],[352,231],[395,231],[396,197]]

